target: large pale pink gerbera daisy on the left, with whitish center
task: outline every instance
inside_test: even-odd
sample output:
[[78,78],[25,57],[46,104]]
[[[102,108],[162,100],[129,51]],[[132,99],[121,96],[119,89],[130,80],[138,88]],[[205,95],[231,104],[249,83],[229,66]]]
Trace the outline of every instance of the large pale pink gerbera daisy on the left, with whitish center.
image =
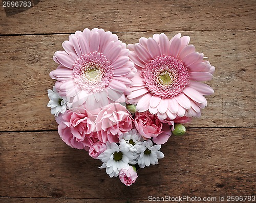
[[65,51],[57,51],[53,56],[59,66],[50,73],[57,80],[55,87],[60,96],[67,97],[73,107],[102,107],[125,101],[124,94],[131,92],[136,68],[129,60],[126,44],[116,34],[84,29],[71,34],[62,47]]

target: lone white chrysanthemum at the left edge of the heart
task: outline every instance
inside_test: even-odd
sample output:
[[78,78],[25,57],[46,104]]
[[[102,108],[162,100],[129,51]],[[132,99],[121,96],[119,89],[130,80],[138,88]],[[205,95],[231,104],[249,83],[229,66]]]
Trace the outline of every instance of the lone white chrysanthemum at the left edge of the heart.
[[66,97],[59,96],[55,86],[53,86],[53,91],[48,89],[48,97],[50,101],[47,106],[51,107],[51,114],[54,114],[55,117],[57,117],[59,113],[63,114],[72,105],[67,101]]

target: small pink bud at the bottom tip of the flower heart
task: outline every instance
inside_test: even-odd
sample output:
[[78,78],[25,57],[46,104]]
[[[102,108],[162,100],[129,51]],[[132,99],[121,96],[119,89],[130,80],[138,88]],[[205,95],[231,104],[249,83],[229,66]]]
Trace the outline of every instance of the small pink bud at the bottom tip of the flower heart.
[[136,179],[137,179],[138,175],[137,172],[134,171],[132,166],[129,166],[127,168],[123,168],[119,171],[119,178],[120,181],[126,185],[126,186],[130,186],[133,183],[135,183]]

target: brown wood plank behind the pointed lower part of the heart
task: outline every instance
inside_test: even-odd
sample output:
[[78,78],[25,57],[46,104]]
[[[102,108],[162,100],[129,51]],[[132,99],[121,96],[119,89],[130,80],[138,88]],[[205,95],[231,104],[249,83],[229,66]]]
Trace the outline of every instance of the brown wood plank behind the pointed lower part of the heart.
[[0,133],[0,196],[85,198],[91,203],[255,192],[255,128],[188,129],[186,136],[171,137],[161,151],[165,157],[159,165],[139,170],[136,183],[127,187],[98,169],[101,162],[86,151],[68,147],[56,131]]

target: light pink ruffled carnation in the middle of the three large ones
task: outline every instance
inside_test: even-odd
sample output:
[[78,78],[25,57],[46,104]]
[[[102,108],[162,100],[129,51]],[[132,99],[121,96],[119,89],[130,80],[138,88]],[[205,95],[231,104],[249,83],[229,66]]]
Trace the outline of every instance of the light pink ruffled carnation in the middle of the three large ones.
[[119,142],[119,135],[133,128],[133,118],[127,109],[119,104],[106,105],[95,120],[98,139],[103,143]]

